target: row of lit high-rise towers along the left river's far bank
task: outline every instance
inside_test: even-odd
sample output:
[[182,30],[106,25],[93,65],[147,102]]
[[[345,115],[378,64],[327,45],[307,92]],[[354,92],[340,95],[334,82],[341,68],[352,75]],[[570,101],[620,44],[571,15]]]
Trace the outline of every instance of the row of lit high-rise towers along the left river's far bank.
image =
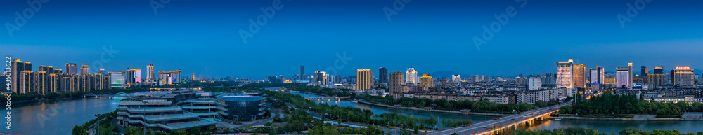
[[[84,63],[65,64],[65,71],[54,69],[53,66],[39,66],[38,71],[32,71],[31,62],[22,62],[13,59],[11,70],[1,75],[2,84],[11,83],[10,89],[0,88],[7,92],[46,94],[48,92],[87,92],[105,90],[111,87],[130,87],[134,85],[171,85],[181,83],[180,69],[176,71],[159,72],[160,78],[154,78],[153,65],[147,66],[147,78],[141,78],[141,69],[127,69],[127,71],[109,71],[98,69],[98,73],[90,73],[89,66]],[[6,74],[11,76],[6,81]]]

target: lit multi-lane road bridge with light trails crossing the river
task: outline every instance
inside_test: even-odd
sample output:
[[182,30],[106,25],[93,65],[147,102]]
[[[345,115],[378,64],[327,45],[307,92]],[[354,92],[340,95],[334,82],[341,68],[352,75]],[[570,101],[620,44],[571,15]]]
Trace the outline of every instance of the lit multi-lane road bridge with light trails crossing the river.
[[464,126],[459,126],[459,127],[451,127],[447,129],[440,129],[437,132],[427,132],[424,134],[431,135],[431,134],[478,134],[481,132],[486,132],[494,128],[500,128],[503,125],[512,125],[515,122],[520,122],[523,120],[530,120],[537,118],[539,115],[543,115],[546,113],[551,113],[553,111],[559,110],[558,108],[561,106],[566,106],[570,105],[571,102],[563,103],[563,104],[557,104],[553,106],[547,106],[543,108],[537,108],[535,110],[531,111],[524,111],[521,113],[517,113],[514,115],[507,115],[503,116],[501,118],[494,118],[491,120],[484,120],[482,122],[476,122],[472,123],[471,125],[464,125]]

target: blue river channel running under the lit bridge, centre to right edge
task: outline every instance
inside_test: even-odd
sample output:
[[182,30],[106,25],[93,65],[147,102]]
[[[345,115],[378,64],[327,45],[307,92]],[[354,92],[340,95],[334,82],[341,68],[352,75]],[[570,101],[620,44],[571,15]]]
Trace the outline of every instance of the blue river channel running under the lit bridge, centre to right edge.
[[[298,92],[289,92],[290,94],[298,94],[302,97],[324,97],[316,94],[305,94]],[[316,101],[316,99],[312,99]],[[352,106],[356,108],[368,109],[374,114],[381,113],[398,113],[399,115],[408,115],[413,117],[428,118],[433,115],[427,111],[413,111],[413,110],[401,110],[396,108],[386,108],[382,106],[368,106],[366,104],[357,104],[352,101],[336,101],[332,99],[331,101],[323,100],[318,101],[321,104],[337,105],[337,106]],[[434,117],[439,118],[450,118],[450,119],[471,119],[474,122],[479,122],[482,120],[487,120],[491,118],[496,118],[494,116],[483,116],[483,115],[462,115],[458,113],[434,113]],[[645,131],[652,131],[654,129],[659,130],[678,130],[679,132],[703,132],[703,121],[675,121],[675,120],[660,120],[660,121],[602,121],[602,120],[550,120],[545,119],[543,121],[536,121],[533,126],[529,127],[518,127],[519,129],[557,129],[560,127],[586,127],[598,130],[598,132],[606,134],[617,134],[622,129],[640,129]]]

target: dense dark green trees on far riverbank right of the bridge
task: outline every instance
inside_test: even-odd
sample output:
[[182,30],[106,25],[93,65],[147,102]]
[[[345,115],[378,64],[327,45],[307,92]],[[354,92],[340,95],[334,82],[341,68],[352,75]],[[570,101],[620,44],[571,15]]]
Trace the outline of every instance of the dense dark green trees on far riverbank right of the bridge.
[[[578,97],[578,95],[577,95]],[[576,105],[563,106],[560,113],[579,115],[624,115],[624,114],[657,114],[657,115],[681,115],[684,112],[703,111],[703,104],[694,103],[689,105],[686,102],[664,103],[643,101],[634,94],[612,94],[610,91],[604,92],[601,96],[591,97],[576,101]]]

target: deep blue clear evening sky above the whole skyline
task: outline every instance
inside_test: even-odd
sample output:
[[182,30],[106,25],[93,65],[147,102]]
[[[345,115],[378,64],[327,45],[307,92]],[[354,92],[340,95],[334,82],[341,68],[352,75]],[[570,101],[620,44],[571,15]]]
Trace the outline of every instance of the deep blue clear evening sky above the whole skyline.
[[[14,31],[7,24],[18,26],[15,12],[34,9],[26,1],[3,0],[0,55],[32,62],[34,70],[63,69],[67,62],[144,70],[151,63],[156,71],[254,78],[290,77],[299,65],[306,73],[326,71],[344,53],[351,60],[333,68],[343,76],[380,66],[404,71],[411,64],[420,73],[553,73],[555,62],[569,58],[607,71],[628,62],[703,69],[703,1],[652,0],[624,25],[617,15],[627,16],[628,3],[637,1],[529,0],[521,6],[412,0],[388,20],[384,8],[393,9],[394,2],[283,0],[244,43],[240,30],[248,31],[249,20],[264,15],[261,8],[273,0],[172,0],[156,12],[146,0],[51,0]],[[482,37],[482,27],[510,7],[515,15],[478,50],[472,38]],[[110,46],[113,57],[101,60],[103,47]]]

